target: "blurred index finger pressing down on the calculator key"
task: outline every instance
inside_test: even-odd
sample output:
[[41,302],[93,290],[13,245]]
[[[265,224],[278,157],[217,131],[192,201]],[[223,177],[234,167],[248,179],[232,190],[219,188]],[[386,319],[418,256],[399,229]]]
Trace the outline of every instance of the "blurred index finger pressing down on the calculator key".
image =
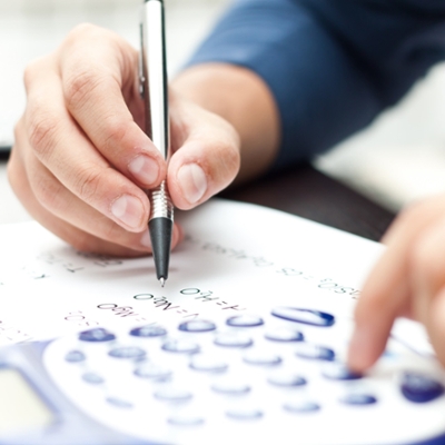
[[385,236],[387,250],[369,274],[355,309],[348,365],[365,370],[383,353],[394,320],[412,312],[412,260],[417,239],[445,212],[443,197],[412,206],[403,211]]

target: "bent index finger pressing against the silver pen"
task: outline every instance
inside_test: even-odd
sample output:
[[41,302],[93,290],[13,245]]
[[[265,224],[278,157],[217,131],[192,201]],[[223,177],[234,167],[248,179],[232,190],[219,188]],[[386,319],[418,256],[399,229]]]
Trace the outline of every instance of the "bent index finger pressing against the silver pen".
[[166,176],[162,156],[139,127],[138,56],[112,32],[82,24],[60,51],[67,108],[100,154],[139,186],[151,188]]

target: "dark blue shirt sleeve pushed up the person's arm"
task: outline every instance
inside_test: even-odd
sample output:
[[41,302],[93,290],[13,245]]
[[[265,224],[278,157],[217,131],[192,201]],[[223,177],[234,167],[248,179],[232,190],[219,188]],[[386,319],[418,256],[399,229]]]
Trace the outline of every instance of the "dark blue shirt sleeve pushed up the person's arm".
[[265,80],[279,168],[367,126],[444,58],[443,0],[237,0],[189,65],[234,63]]

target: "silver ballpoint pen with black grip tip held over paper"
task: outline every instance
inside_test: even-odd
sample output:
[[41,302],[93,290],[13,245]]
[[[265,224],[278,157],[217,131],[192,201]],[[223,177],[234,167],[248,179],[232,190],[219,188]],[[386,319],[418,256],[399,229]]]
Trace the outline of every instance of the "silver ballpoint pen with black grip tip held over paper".
[[[169,155],[166,38],[162,0],[145,0],[140,24],[140,93],[146,108],[146,134],[167,159]],[[156,275],[161,286],[168,278],[174,206],[164,180],[148,191],[151,215],[148,221]]]

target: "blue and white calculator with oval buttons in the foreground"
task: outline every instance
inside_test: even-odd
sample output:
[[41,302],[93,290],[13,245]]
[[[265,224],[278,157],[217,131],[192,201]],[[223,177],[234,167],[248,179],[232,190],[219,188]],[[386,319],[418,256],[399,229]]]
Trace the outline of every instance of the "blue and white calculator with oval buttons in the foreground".
[[445,443],[434,356],[392,337],[354,374],[352,328],[320,308],[270,306],[10,346],[0,444]]

